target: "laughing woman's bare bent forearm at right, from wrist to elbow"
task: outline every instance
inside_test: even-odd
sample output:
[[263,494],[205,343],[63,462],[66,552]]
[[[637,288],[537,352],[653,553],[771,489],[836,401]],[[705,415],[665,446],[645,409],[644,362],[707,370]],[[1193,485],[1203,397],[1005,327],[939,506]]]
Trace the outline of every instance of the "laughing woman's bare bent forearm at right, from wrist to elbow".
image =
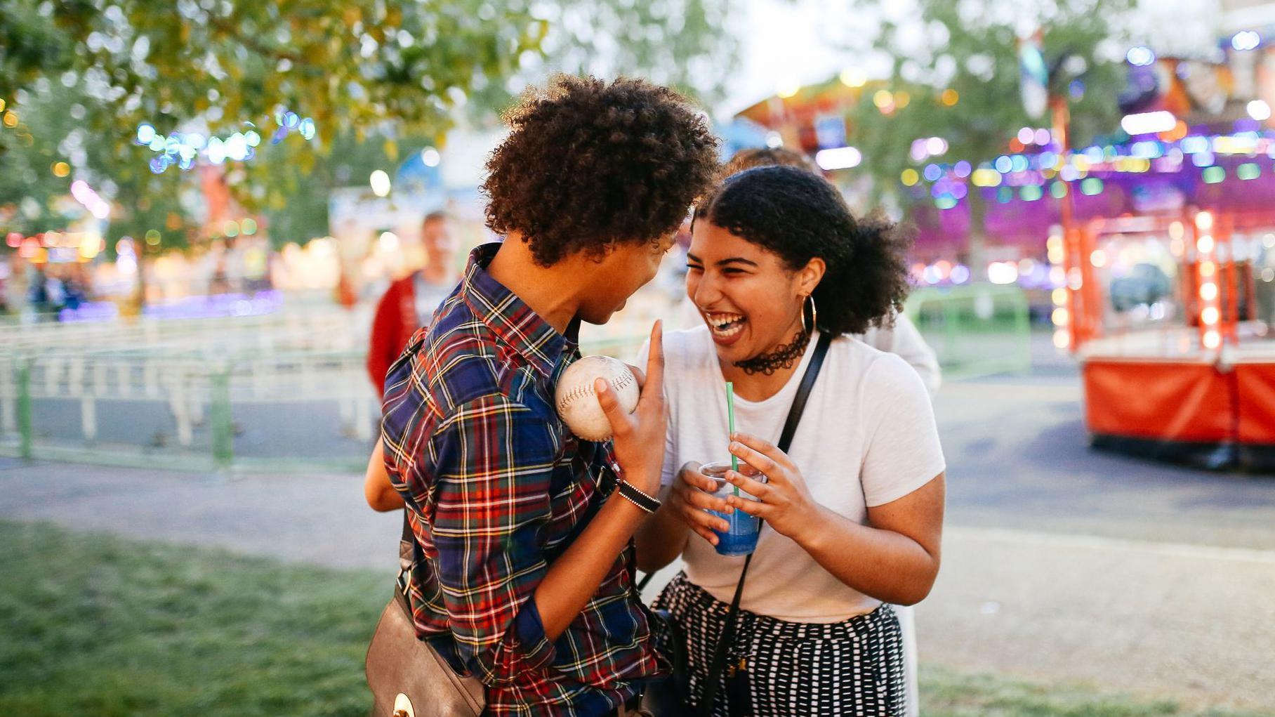
[[820,508],[820,519],[794,540],[841,583],[884,602],[915,605],[938,575],[938,555],[919,542],[827,508]]

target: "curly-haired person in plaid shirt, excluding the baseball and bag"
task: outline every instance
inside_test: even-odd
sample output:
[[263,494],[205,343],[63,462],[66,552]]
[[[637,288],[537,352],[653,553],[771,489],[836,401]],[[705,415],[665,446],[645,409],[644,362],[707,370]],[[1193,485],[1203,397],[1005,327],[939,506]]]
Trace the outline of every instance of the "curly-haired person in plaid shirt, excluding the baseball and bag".
[[417,634],[486,685],[484,714],[630,714],[663,672],[632,570],[663,459],[662,361],[631,416],[595,387],[613,444],[571,435],[555,384],[579,323],[654,277],[717,142],[678,94],[631,79],[558,77],[506,119],[483,185],[505,241],[474,250],[390,367],[368,503],[407,504]]

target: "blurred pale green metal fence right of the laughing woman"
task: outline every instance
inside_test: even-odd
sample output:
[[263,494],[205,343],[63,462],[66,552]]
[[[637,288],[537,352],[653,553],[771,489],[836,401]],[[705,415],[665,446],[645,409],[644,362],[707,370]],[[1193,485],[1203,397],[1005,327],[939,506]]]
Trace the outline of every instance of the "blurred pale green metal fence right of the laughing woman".
[[1028,300],[1017,287],[918,288],[904,311],[938,355],[945,379],[1031,367]]

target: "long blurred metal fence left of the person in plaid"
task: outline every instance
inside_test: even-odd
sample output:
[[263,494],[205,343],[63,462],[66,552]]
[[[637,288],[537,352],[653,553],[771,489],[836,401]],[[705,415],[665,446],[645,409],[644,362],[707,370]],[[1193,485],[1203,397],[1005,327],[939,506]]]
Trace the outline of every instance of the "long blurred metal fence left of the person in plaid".
[[379,416],[365,333],[342,310],[0,327],[0,455],[361,468]]

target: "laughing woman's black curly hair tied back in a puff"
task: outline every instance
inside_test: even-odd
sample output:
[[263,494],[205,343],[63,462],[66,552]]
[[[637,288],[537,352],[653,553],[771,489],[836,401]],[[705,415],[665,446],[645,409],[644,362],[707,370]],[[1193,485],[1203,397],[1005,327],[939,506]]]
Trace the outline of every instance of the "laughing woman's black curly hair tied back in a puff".
[[912,240],[884,217],[856,219],[831,182],[793,166],[765,166],[728,177],[695,212],[778,254],[790,270],[819,256],[827,265],[815,288],[819,330],[859,334],[890,325],[912,283]]

